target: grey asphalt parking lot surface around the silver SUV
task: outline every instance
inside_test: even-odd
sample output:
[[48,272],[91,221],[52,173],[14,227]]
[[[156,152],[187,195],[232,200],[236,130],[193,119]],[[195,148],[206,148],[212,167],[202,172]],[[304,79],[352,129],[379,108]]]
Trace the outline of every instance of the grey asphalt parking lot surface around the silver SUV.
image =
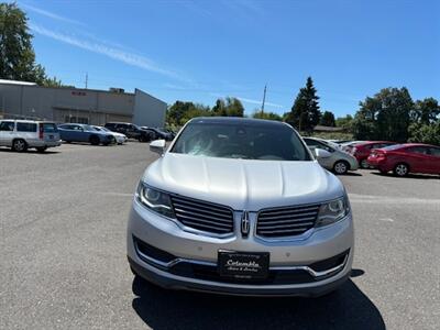
[[217,297],[133,280],[127,215],[153,160],[135,142],[0,150],[0,329],[439,329],[438,177],[342,177],[356,253],[336,294]]

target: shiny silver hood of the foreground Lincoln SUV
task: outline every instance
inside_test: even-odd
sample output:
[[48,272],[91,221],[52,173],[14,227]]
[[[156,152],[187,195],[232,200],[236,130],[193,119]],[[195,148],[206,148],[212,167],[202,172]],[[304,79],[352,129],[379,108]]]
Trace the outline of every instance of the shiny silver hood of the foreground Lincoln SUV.
[[235,210],[321,202],[344,195],[316,161],[231,160],[166,153],[147,167],[147,185]]

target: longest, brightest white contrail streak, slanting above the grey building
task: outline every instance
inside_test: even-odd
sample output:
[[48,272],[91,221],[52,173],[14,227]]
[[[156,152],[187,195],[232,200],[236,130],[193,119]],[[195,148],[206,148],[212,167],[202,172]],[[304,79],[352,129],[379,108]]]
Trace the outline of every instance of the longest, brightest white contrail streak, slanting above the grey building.
[[150,58],[147,58],[145,56],[129,53],[129,52],[122,51],[122,50],[118,50],[118,48],[105,45],[102,43],[79,40],[75,36],[54,32],[52,30],[47,30],[47,29],[36,25],[36,24],[30,24],[30,28],[34,33],[51,37],[53,40],[63,42],[65,44],[69,44],[72,46],[75,46],[75,47],[78,47],[81,50],[86,50],[86,51],[89,51],[92,53],[101,54],[109,58],[148,70],[148,72],[157,73],[157,74],[161,74],[161,75],[164,75],[167,77],[172,77],[172,78],[175,78],[178,80],[183,80],[183,81],[189,81],[189,79],[182,77],[177,73],[158,66],[156,63],[154,63],[153,61],[151,61]]

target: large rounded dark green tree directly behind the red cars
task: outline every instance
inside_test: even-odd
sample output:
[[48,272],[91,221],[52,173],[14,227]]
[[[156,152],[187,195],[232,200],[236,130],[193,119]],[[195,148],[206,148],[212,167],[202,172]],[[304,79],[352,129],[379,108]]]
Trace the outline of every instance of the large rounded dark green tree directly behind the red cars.
[[384,88],[360,102],[353,120],[358,140],[406,142],[414,102],[407,88]]

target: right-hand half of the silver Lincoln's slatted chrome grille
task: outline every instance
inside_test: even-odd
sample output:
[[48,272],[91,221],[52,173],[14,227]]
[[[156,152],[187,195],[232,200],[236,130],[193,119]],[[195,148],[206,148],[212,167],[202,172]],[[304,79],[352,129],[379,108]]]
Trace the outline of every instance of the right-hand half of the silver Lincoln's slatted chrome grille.
[[260,211],[256,234],[264,238],[300,235],[315,226],[319,207],[309,205]]

